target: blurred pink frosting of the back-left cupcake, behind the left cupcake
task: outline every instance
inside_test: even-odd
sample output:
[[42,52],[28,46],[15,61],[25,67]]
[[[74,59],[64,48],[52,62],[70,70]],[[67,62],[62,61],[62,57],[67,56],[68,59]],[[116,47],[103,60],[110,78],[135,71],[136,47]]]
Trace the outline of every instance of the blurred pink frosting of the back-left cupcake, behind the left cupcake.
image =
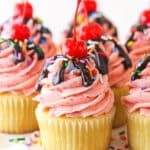
[[[11,26],[15,23],[22,23],[22,17],[18,17],[17,19],[10,18],[10,20],[8,20],[4,25],[2,25],[1,37],[10,38]],[[43,26],[42,22],[39,21],[38,23],[34,23],[34,18],[30,18],[26,22],[26,25],[30,29],[30,38],[36,45],[39,45],[41,47],[45,54],[45,57],[48,58],[56,55],[57,47],[53,41],[52,35],[50,33],[37,32],[41,28],[41,26]],[[45,42],[39,42],[41,36],[45,38]]]

